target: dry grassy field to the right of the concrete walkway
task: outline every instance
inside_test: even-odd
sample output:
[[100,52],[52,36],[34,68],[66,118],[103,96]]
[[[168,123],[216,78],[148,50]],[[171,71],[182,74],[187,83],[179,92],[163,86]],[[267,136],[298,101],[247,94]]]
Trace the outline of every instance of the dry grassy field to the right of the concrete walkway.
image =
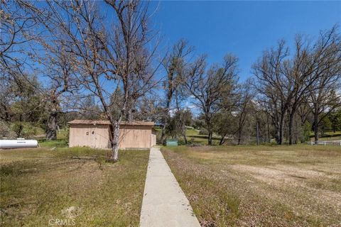
[[341,147],[162,150],[202,226],[341,225]]

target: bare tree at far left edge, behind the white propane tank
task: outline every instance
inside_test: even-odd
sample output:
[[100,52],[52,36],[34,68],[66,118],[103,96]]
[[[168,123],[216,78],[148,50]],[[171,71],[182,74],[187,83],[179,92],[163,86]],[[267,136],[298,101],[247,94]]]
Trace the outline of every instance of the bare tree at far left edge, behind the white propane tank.
[[32,44],[40,31],[18,1],[1,1],[0,21],[0,115],[8,124],[16,121],[19,136],[23,121],[38,121],[41,110],[32,61]]

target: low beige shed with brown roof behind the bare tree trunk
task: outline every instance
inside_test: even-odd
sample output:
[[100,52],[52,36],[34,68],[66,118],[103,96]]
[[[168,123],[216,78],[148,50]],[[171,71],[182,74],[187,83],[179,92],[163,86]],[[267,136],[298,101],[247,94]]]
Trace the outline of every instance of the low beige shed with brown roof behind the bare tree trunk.
[[[69,147],[111,148],[109,121],[73,120],[69,122]],[[149,121],[121,122],[120,149],[149,149],[156,145],[154,123]]]

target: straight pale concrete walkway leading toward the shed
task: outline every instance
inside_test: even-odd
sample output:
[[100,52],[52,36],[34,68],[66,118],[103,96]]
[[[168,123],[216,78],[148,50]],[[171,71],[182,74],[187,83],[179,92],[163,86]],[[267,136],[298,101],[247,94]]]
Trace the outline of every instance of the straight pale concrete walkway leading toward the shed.
[[200,226],[160,148],[149,155],[140,226]]

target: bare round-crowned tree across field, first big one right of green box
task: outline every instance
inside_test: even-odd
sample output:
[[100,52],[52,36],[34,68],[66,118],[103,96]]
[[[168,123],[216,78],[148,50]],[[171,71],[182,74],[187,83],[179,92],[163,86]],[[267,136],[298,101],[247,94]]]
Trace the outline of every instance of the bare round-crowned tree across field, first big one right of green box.
[[193,104],[200,108],[208,131],[208,145],[212,145],[213,118],[224,107],[236,82],[237,57],[226,55],[222,65],[205,70],[205,56],[199,57],[188,67],[185,87],[195,98]]

